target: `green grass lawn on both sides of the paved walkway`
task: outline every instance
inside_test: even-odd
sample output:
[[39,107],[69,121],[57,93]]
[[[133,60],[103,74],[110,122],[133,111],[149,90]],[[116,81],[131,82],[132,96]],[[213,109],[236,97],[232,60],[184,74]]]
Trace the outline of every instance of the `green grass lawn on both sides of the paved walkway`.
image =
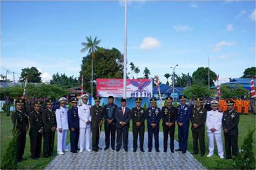
[[[8,146],[9,140],[12,137],[12,122],[11,122],[11,117],[6,117],[5,112],[1,112],[0,114],[1,118],[1,152],[0,152],[0,164],[2,162],[2,155],[5,151],[5,148]],[[131,124],[132,121],[130,121]],[[161,124],[160,124],[161,125]],[[130,131],[132,131],[132,126],[130,126]],[[239,149],[242,145],[242,141],[244,140],[244,137],[247,134],[247,131],[249,128],[255,129],[255,116],[253,114],[249,115],[241,115],[240,116],[240,121],[239,121],[239,138],[238,138],[238,145]],[[104,127],[102,127],[102,130],[104,131]],[[147,131],[147,129],[145,129]],[[163,126],[160,126],[160,131],[163,131]],[[145,134],[147,135],[147,134]],[[68,135],[69,136],[69,135]],[[175,139],[178,140],[178,127],[176,125],[176,133],[175,133]],[[255,133],[253,136],[254,139],[254,148],[255,148]],[[132,139],[130,139],[132,140]],[[224,139],[223,139],[224,141]],[[206,142],[206,155],[208,154],[208,137],[207,134],[205,134],[205,142]],[[68,141],[69,143],[69,137]],[[163,143],[163,141],[160,141],[160,143]],[[163,148],[162,148],[163,149]],[[225,150],[225,148],[224,148]],[[255,149],[254,149],[255,150]],[[192,133],[190,130],[190,134],[188,136],[188,151],[193,152],[193,142],[192,142]],[[54,153],[57,152],[57,133],[55,135],[55,150]],[[212,168],[232,168],[228,167],[227,161],[230,160],[222,160],[218,157],[217,155],[217,146],[215,145],[215,151],[214,151],[214,156],[211,158],[205,157],[200,157],[199,155],[195,155],[195,158],[201,162],[206,168],[212,169]],[[24,158],[28,158],[28,160],[22,161],[18,167],[21,169],[24,168],[44,168],[46,167],[49,162],[54,158],[40,158],[38,160],[32,160],[30,158],[30,139],[29,139],[29,134],[27,133],[26,135],[26,147],[25,147],[25,153],[24,153]],[[231,160],[232,161],[232,160]]]

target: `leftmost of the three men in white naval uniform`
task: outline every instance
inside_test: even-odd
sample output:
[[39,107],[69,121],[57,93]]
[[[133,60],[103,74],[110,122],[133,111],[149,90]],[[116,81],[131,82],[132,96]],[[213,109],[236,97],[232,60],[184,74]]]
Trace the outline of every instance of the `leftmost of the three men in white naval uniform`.
[[64,152],[68,152],[66,149],[66,137],[68,136],[69,124],[68,124],[68,108],[66,105],[66,98],[60,97],[59,100],[60,107],[56,110],[56,122],[57,122],[57,134],[58,134],[58,154],[62,155]]

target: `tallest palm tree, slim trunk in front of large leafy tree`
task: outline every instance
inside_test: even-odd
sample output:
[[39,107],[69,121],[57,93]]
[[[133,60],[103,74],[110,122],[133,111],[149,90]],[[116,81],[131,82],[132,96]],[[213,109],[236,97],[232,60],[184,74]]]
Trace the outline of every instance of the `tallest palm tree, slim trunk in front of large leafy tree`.
[[92,40],[91,36],[90,38],[86,36],[86,40],[87,42],[82,42],[81,45],[84,46],[84,48],[82,48],[80,50],[81,53],[85,52],[88,50],[88,54],[91,55],[91,60],[92,60],[92,77],[91,77],[91,95],[93,96],[93,59],[95,59],[96,55],[95,55],[95,52],[97,49],[99,49],[99,43],[100,43],[100,40],[97,40],[97,37],[95,37],[94,40]]

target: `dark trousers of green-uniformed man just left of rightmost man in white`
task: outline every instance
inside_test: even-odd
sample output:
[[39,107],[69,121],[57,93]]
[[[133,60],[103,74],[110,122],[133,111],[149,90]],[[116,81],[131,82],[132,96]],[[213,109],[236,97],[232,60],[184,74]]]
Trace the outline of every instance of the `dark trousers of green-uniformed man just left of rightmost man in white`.
[[198,140],[200,144],[201,155],[205,154],[205,131],[192,131],[193,137],[193,150],[194,153],[198,153]]

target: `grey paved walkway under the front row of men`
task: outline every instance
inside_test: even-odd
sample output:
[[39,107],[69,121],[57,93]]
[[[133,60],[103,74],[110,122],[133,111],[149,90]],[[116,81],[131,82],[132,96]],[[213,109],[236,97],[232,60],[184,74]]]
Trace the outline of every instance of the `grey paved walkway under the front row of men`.
[[[99,146],[104,148],[105,135],[101,133]],[[132,152],[132,132],[129,132],[129,152],[100,150],[99,152],[71,153],[57,155],[46,169],[205,169],[191,153],[171,153],[170,148],[163,152],[163,132],[159,133],[160,152],[147,152],[147,133],[144,137],[145,152]],[[153,140],[154,143],[154,140]],[[69,145],[67,147],[70,147]],[[174,147],[178,148],[175,141]]]

